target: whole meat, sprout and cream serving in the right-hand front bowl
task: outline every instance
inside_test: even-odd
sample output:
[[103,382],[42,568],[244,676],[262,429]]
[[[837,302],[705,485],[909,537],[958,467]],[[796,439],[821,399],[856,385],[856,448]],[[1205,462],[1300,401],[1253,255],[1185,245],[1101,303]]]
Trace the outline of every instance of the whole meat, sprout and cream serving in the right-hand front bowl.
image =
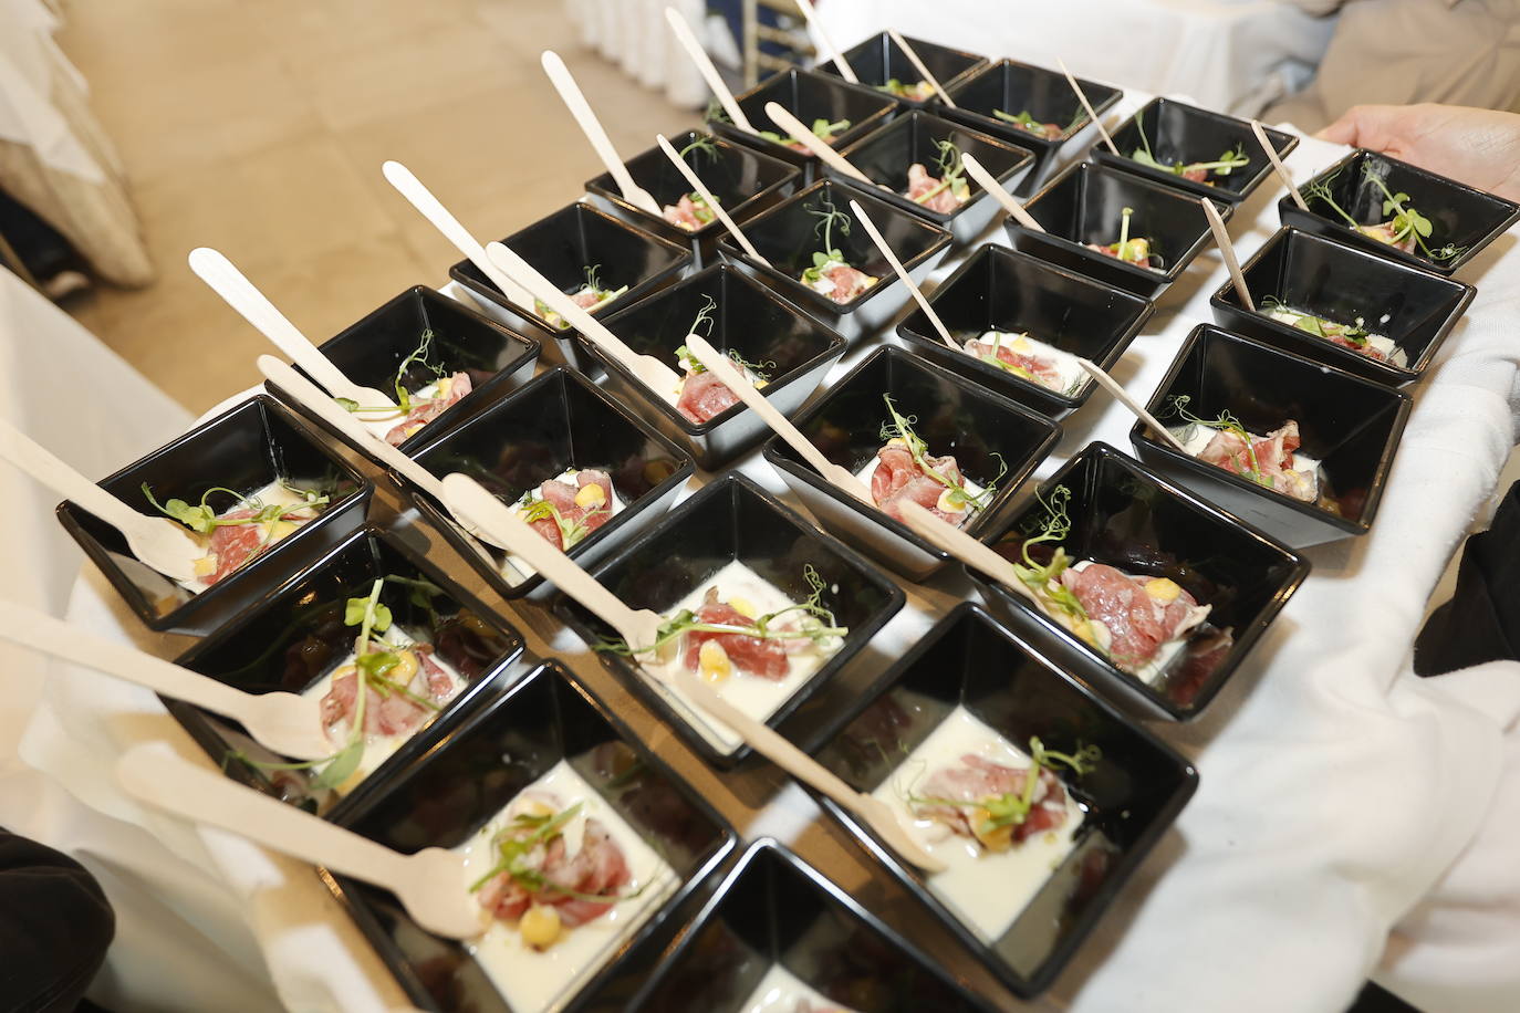
[[872,794],[948,866],[929,890],[991,943],[1075,846],[1084,811],[1058,773],[1081,778],[1100,761],[1096,747],[1056,752],[1038,738],[1020,750],[958,706]]

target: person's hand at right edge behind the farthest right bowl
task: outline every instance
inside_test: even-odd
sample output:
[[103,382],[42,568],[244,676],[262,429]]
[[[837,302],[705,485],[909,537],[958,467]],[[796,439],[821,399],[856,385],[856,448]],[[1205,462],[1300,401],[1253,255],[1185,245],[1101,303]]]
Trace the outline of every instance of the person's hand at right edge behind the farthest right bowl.
[[1316,137],[1520,200],[1520,114],[1432,103],[1359,105]]

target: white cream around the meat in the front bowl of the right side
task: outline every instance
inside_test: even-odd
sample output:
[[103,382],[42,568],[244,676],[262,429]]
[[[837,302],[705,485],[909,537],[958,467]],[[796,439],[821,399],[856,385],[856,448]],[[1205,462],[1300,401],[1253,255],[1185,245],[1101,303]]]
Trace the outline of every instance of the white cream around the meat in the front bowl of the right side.
[[1085,814],[1066,796],[1066,822],[1052,831],[1014,844],[1005,852],[985,850],[938,822],[914,814],[907,799],[924,778],[945,767],[959,767],[961,756],[976,753],[1003,767],[1026,768],[1029,756],[964,706],[944,721],[871,793],[909,817],[909,832],[935,858],[948,866],[930,873],[929,890],[979,939],[991,943],[1014,923],[1031,898],[1072,852]]

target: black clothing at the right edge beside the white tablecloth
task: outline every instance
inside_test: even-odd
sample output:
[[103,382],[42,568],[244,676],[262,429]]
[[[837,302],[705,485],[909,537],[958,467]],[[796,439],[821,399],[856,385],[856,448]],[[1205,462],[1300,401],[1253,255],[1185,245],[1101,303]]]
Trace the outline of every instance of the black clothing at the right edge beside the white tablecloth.
[[1415,638],[1415,674],[1438,676],[1485,661],[1520,659],[1520,483],[1487,532],[1467,539],[1452,600]]

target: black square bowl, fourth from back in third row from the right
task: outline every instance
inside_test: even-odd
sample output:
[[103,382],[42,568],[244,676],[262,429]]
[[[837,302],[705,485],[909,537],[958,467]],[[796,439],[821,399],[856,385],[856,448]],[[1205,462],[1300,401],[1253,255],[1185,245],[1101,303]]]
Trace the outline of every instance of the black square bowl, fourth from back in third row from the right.
[[[708,334],[713,348],[765,363],[771,383],[760,392],[783,415],[803,407],[845,351],[839,334],[731,264],[708,267],[608,317],[606,323],[635,352],[654,355],[679,374],[675,349],[686,343],[708,298],[717,302]],[[606,371],[608,386],[702,468],[722,466],[771,431],[743,402],[707,422],[693,422],[600,348],[588,345],[587,351]]]

